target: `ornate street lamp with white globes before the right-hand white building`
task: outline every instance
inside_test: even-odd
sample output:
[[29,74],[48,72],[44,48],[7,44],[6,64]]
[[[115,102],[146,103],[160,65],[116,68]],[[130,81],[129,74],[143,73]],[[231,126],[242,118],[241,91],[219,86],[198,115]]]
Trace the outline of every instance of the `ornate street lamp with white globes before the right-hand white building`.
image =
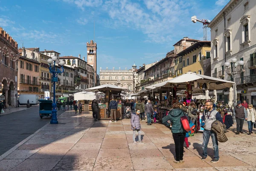
[[[235,84],[233,85],[233,93],[234,93],[234,102],[233,102],[233,106],[235,106],[236,105],[236,74],[239,74],[239,73],[241,73],[241,72],[243,72],[244,71],[244,68],[242,67],[242,66],[244,66],[244,61],[242,61],[242,60],[239,60],[239,62],[238,63],[236,63],[237,62],[237,59],[236,58],[233,58],[232,60],[231,60],[232,62],[232,67],[233,67],[233,71],[232,71],[232,69],[230,68],[230,69],[226,69],[226,72],[227,72],[227,74],[229,74],[229,75],[232,75],[233,76],[233,78],[234,78],[234,82],[235,82]],[[227,68],[227,67],[229,67],[230,66],[230,63],[229,62],[225,62],[224,63],[224,66]]]

